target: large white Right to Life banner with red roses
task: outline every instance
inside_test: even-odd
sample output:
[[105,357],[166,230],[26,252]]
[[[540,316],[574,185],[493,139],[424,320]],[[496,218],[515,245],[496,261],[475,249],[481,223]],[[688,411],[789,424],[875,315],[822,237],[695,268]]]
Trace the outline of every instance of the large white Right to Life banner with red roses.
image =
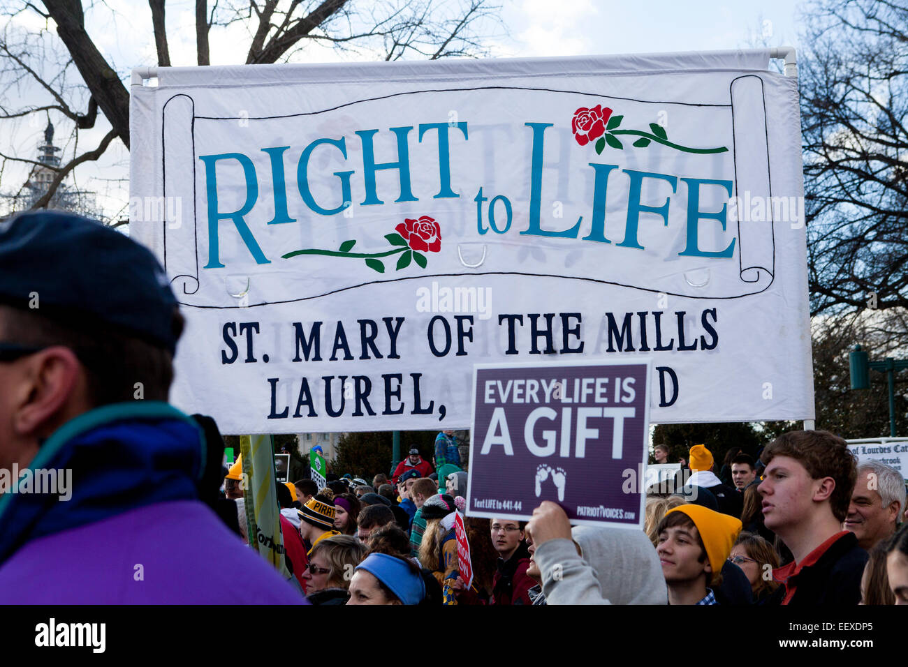
[[652,357],[658,422],[814,417],[768,53],[167,68],[131,233],[226,433],[468,427],[474,363]]

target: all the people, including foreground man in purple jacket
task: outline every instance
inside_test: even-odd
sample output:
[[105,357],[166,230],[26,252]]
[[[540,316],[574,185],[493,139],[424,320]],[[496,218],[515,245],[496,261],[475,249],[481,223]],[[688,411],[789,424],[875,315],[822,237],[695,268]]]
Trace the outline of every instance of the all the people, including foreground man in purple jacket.
[[644,530],[572,527],[548,501],[527,523],[466,516],[467,579],[468,476],[443,432],[434,466],[410,450],[390,479],[279,486],[285,579],[243,544],[262,534],[216,424],[167,403],[183,318],[151,252],[44,211],[0,225],[0,266],[0,469],[73,475],[0,495],[2,603],[908,603],[903,477],[824,431],[718,475],[691,447]]

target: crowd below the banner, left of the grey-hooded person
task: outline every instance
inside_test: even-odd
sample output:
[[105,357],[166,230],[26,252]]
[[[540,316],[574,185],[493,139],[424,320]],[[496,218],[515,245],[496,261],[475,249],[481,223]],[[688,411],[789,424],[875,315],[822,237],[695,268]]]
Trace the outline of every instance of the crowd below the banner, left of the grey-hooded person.
[[[238,459],[224,476],[236,521],[223,516],[248,544],[241,471]],[[451,431],[439,433],[432,463],[410,449],[390,479],[329,473],[323,488],[311,479],[285,483],[278,493],[285,564],[313,604],[541,602],[523,522],[465,517],[475,569],[471,582],[459,576],[454,518],[466,495]]]

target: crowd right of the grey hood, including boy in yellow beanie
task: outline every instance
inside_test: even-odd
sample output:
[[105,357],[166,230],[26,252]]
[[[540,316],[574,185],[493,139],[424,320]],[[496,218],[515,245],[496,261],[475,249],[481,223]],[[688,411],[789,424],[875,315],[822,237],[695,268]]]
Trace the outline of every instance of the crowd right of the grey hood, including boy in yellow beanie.
[[[668,463],[668,448],[654,449]],[[693,446],[689,468],[650,487],[645,530],[671,603],[908,603],[898,470],[857,464],[825,431],[786,433],[755,454],[731,448],[716,476],[712,453]]]

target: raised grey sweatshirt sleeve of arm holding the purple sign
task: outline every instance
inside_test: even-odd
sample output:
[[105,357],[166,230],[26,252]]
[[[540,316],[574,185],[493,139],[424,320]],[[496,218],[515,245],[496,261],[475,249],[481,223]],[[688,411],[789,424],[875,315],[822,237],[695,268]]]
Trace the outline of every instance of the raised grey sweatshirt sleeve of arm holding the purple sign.
[[533,559],[542,573],[547,604],[611,604],[602,597],[596,573],[577,554],[572,540],[539,544]]

